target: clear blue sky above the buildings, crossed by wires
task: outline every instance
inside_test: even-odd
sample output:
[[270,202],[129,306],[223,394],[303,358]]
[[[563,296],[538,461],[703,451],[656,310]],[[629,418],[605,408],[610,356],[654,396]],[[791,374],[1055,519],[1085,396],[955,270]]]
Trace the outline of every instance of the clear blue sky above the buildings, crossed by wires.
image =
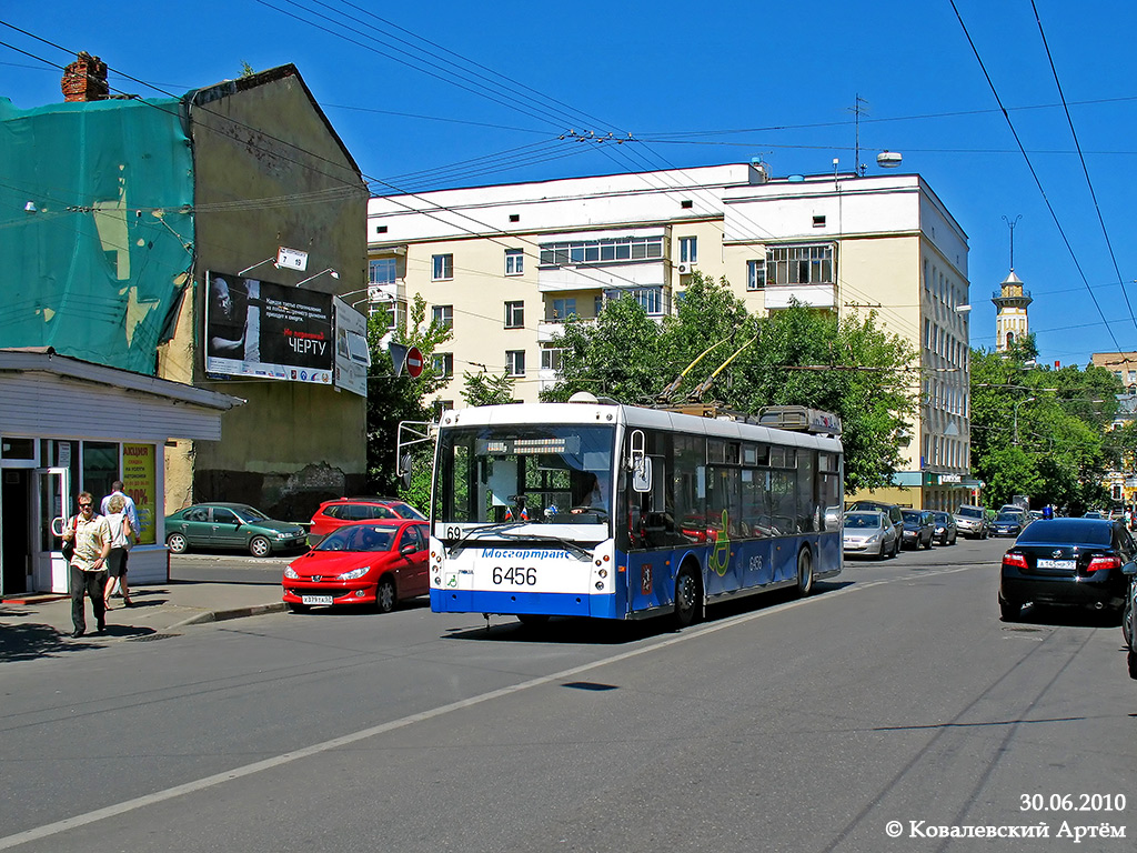
[[1132,0],[25,0],[0,20],[31,33],[0,26],[0,96],[23,108],[63,99],[78,50],[143,97],[292,63],[376,192],[755,156],[852,168],[860,97],[869,173],[902,152],[969,235],[972,346],[994,347],[1005,216],[1040,359],[1137,350]]

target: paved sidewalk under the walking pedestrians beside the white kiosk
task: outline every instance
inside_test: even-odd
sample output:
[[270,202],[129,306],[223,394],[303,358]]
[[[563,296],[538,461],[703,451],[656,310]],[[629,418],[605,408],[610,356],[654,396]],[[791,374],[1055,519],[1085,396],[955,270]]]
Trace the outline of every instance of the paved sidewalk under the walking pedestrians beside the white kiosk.
[[91,602],[86,635],[72,639],[70,598],[59,595],[14,595],[0,601],[0,663],[31,660],[53,648],[141,640],[204,622],[255,616],[284,610],[281,588],[272,583],[201,583],[169,581],[131,589],[132,607],[113,598],[107,631],[96,633]]

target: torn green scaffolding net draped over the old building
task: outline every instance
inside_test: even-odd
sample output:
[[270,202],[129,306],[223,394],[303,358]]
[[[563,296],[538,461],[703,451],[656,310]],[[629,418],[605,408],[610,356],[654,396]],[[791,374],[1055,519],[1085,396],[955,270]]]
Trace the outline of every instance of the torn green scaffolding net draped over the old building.
[[193,259],[181,100],[0,98],[0,347],[152,375]]

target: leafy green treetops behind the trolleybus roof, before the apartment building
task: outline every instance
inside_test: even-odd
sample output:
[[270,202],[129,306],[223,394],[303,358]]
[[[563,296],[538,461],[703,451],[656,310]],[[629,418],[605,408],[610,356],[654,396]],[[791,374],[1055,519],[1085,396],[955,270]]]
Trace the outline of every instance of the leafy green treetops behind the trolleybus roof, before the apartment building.
[[745,413],[770,405],[832,412],[844,422],[849,491],[885,486],[897,471],[919,387],[907,372],[911,346],[882,331],[874,314],[839,321],[795,305],[757,317],[725,280],[698,273],[662,323],[625,297],[595,323],[571,317],[553,346],[563,350],[562,375],[543,399],[587,390],[644,405],[670,390],[671,403],[698,395]]

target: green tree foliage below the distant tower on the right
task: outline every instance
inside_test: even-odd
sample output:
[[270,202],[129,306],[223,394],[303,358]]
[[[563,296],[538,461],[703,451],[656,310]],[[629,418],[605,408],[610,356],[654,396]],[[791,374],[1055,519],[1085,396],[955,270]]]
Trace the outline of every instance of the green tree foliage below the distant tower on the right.
[[984,499],[1027,495],[1074,513],[1103,505],[1105,470],[1137,447],[1137,433],[1107,431],[1121,383],[1104,367],[1052,368],[1036,357],[1032,336],[971,354],[971,467]]

